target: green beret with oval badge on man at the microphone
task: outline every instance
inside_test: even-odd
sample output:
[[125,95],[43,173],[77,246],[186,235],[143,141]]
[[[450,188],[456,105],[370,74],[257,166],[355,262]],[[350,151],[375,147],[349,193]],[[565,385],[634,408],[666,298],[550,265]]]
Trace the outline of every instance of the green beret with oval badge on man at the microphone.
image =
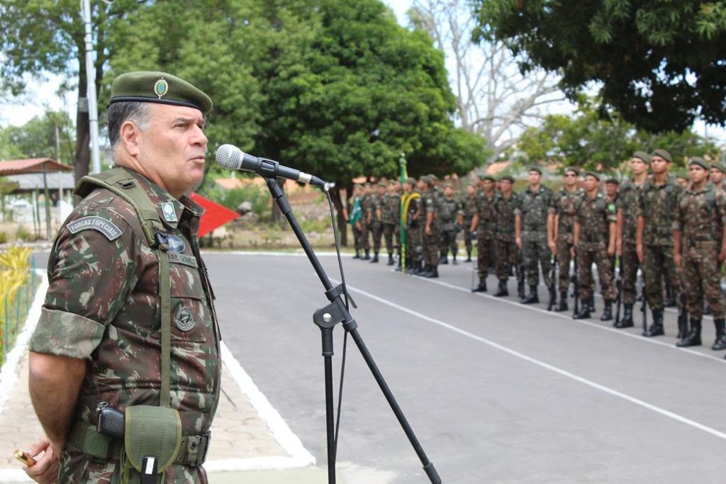
[[194,107],[208,114],[212,100],[192,84],[168,73],[143,70],[121,74],[113,80],[111,101],[158,102],[175,106]]

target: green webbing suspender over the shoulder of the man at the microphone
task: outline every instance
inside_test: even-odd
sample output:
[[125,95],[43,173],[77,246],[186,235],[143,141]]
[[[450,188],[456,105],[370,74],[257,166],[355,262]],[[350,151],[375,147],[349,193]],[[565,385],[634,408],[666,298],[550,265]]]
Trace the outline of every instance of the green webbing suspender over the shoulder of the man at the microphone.
[[84,176],[76,186],[75,193],[85,197],[95,186],[101,186],[129,202],[136,210],[144,236],[150,247],[159,255],[159,292],[161,298],[161,392],[159,406],[170,406],[171,402],[171,276],[169,276],[168,245],[159,242],[155,233],[163,229],[155,206],[149,195],[136,183],[134,177],[121,168],[104,173]]

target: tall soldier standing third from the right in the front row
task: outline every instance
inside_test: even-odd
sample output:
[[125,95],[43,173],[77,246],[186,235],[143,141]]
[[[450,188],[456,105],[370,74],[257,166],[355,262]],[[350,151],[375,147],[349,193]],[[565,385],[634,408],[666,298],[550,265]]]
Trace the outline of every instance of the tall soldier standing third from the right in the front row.
[[648,179],[648,165],[650,155],[637,151],[630,160],[632,179],[620,186],[616,209],[618,210],[618,237],[616,252],[620,257],[620,275],[623,284],[622,301],[624,314],[620,321],[615,323],[616,328],[629,328],[633,321],[633,305],[637,297],[635,283],[637,268],[640,263],[637,259],[637,212],[640,203],[640,194],[645,181]]

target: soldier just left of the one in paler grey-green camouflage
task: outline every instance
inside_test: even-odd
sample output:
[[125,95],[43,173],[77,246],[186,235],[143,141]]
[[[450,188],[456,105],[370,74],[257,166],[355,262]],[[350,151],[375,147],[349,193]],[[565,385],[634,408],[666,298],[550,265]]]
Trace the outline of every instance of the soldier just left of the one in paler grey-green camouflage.
[[494,212],[496,213],[494,221],[496,235],[494,237],[497,240],[495,253],[497,253],[497,279],[499,279],[499,287],[494,296],[503,298],[509,295],[507,279],[510,268],[515,268],[517,290],[521,299],[524,297],[524,271],[521,252],[514,243],[514,213],[519,197],[512,191],[513,185],[514,179],[511,176],[502,176],[499,179],[501,193],[494,199]]

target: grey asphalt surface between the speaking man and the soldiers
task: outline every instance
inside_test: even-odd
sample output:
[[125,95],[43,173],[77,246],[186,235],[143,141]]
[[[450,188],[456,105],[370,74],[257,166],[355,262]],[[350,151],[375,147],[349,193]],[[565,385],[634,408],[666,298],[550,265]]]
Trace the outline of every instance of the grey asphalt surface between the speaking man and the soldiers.
[[[335,258],[321,260],[338,281]],[[312,314],[327,299],[309,261],[231,253],[205,261],[224,341],[325,467]],[[726,360],[709,349],[710,319],[706,345],[682,350],[673,311],[666,336],[646,339],[637,326],[472,294],[470,263],[442,266],[436,280],[350,256],[344,267],[359,334],[444,483],[722,482]],[[601,309],[600,300],[595,318]],[[343,333],[335,329],[336,384]],[[428,482],[350,338],[338,464],[350,484]]]

